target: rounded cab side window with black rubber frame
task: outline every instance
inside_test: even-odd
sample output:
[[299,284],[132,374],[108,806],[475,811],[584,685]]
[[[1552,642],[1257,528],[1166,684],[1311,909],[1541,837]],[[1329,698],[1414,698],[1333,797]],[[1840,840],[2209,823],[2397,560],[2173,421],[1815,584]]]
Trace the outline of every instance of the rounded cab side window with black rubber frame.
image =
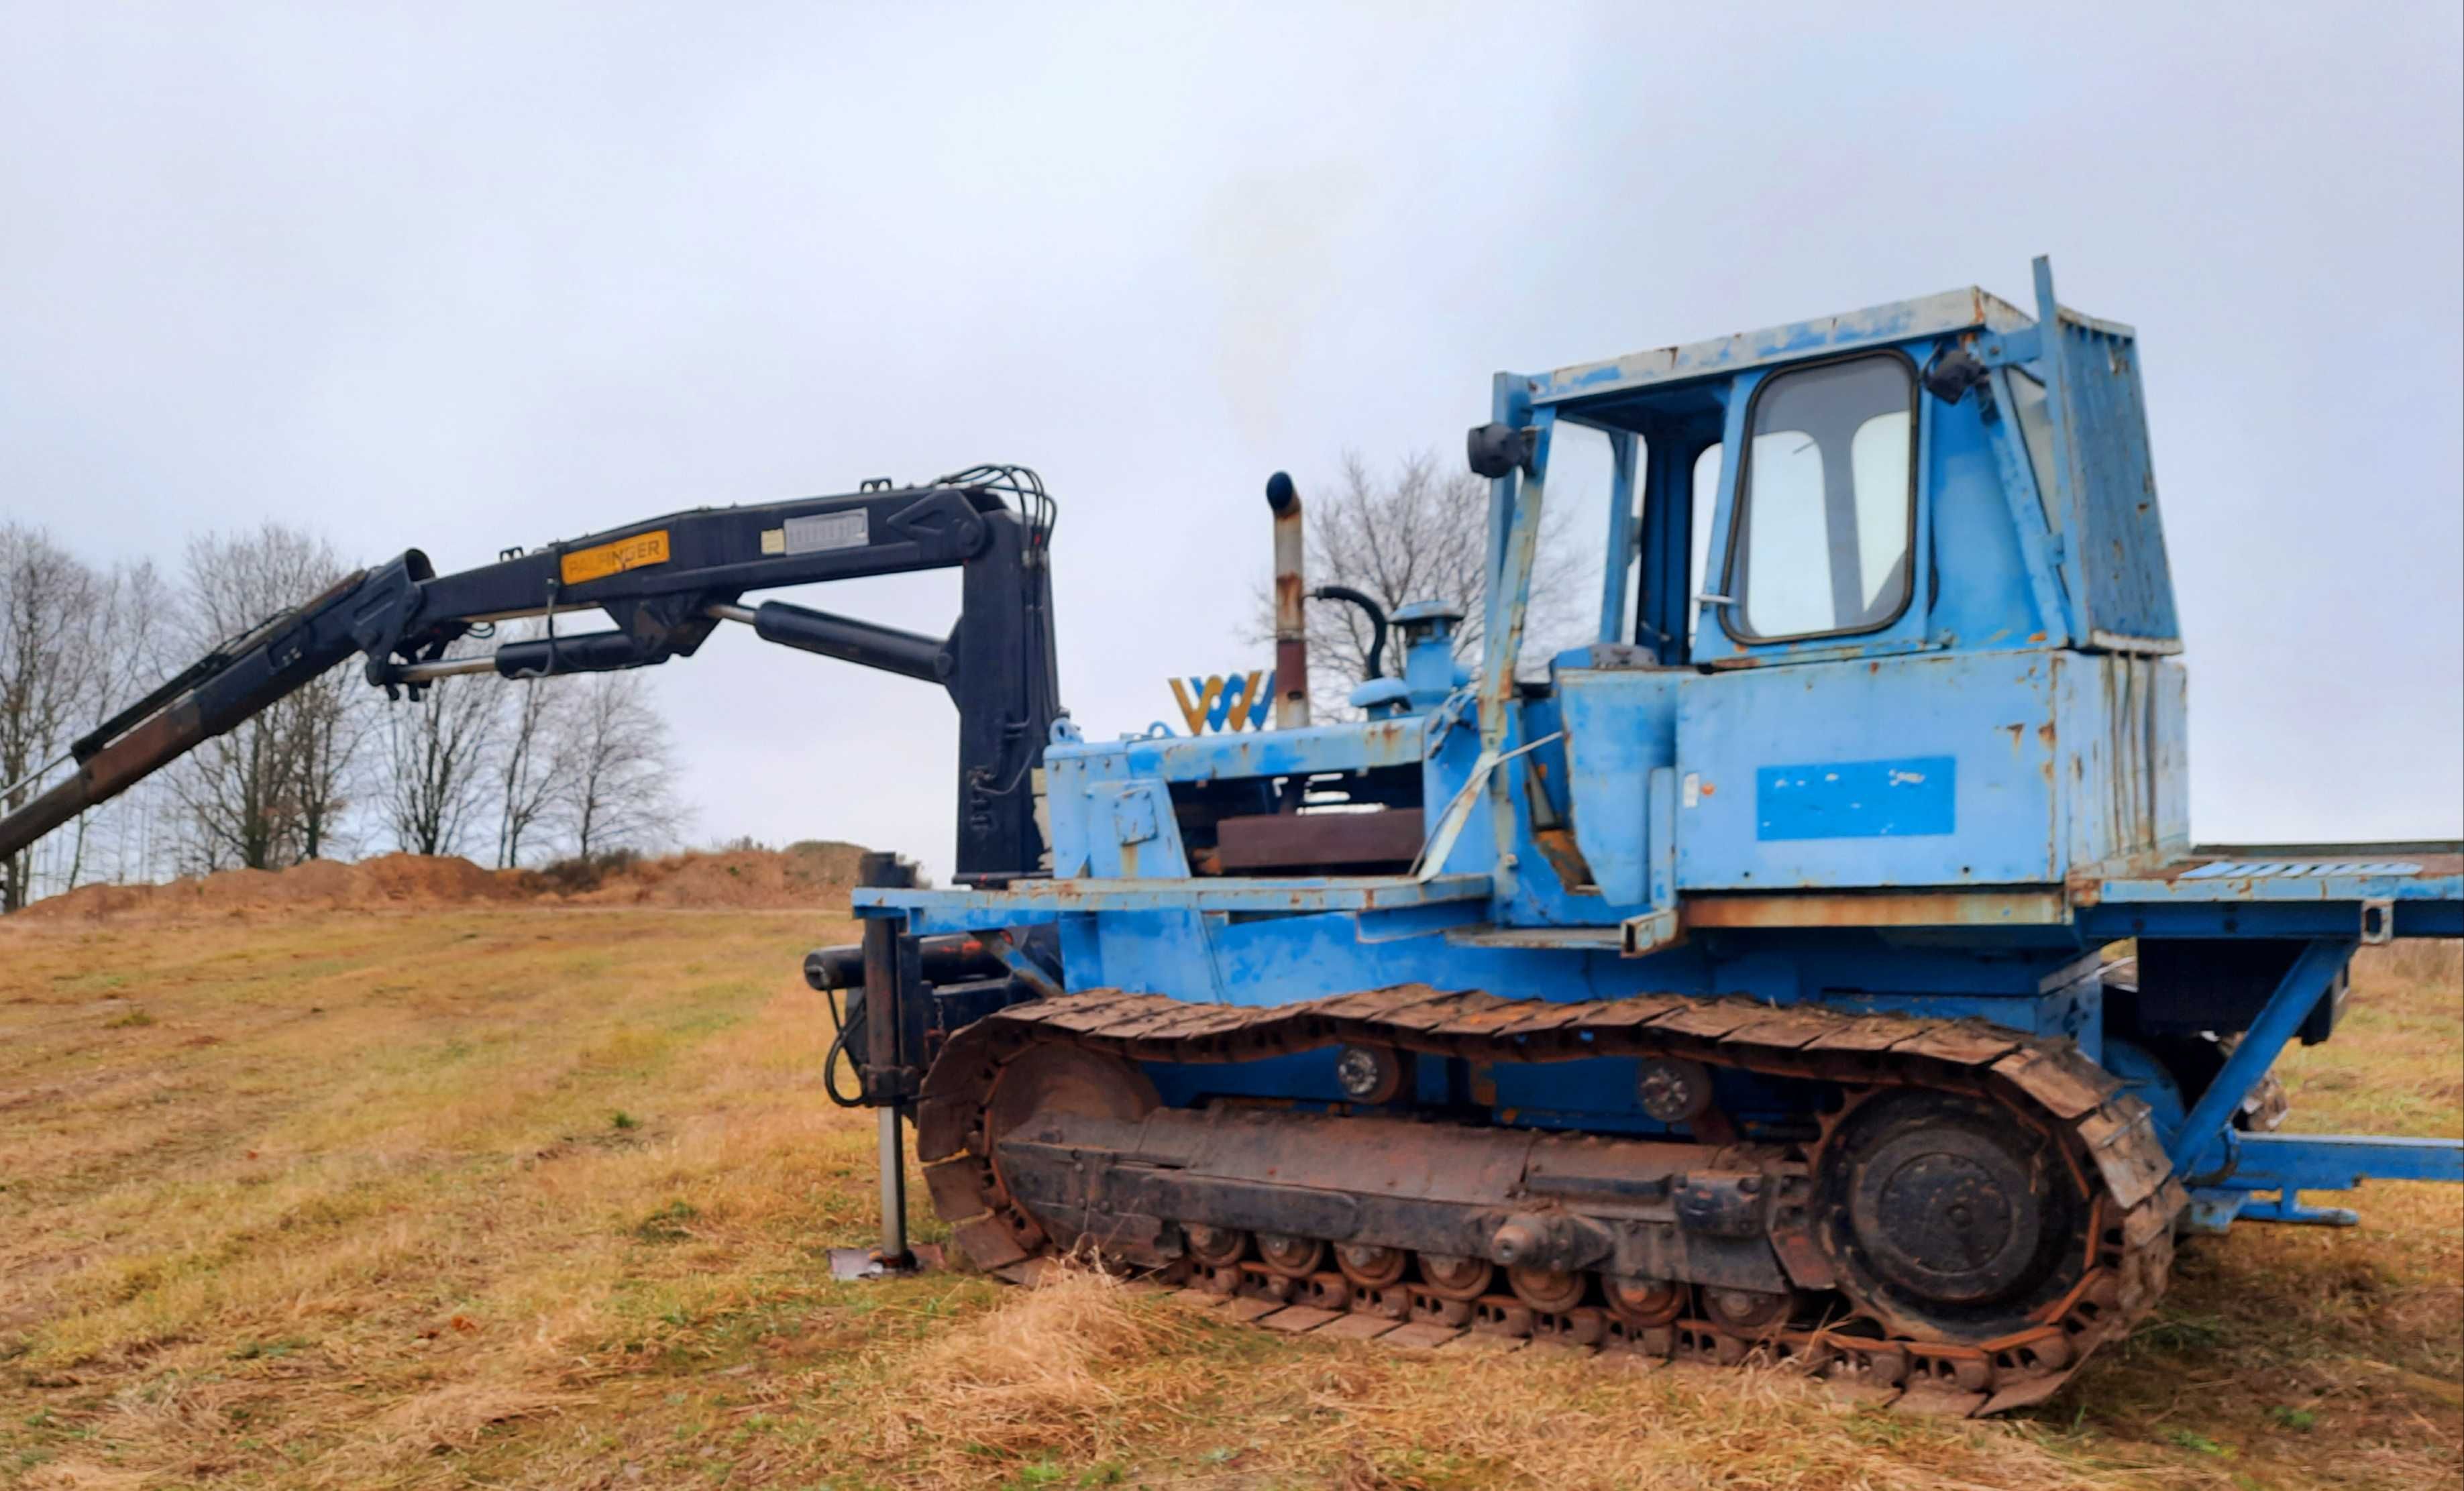
[[1754,392],[1722,626],[1740,641],[1878,631],[1907,606],[1917,377],[1897,355],[1781,372]]

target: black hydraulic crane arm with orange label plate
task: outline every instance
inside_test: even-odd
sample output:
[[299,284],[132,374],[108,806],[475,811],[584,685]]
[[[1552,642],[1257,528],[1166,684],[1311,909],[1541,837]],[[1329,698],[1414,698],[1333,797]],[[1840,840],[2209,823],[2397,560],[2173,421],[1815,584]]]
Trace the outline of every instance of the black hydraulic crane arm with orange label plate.
[[[407,550],[222,643],[79,737],[69,747],[76,771],[0,816],[0,858],[355,653],[367,658],[370,683],[416,697],[453,673],[545,678],[690,658],[722,621],[742,621],[764,641],[941,683],[958,705],[958,877],[1032,875],[1045,845],[1030,774],[1060,717],[1050,532],[1052,500],[1032,471],[978,466],[922,488],[867,483],[855,495],[673,513],[508,550],[458,574],[436,574],[426,555]],[[946,638],[786,601],[744,604],[761,589],[951,567],[963,572],[963,604]],[[616,626],[559,626],[582,614]],[[545,619],[547,636],[446,656],[456,641],[525,616]]]

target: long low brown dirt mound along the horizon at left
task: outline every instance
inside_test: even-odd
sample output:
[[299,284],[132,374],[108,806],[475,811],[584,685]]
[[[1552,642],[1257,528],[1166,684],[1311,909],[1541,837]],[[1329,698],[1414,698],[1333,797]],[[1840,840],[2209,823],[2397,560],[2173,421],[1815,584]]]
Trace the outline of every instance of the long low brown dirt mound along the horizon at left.
[[[845,909],[862,848],[806,840],[786,850],[712,850],[591,867],[584,880],[537,870],[480,870],[448,855],[377,855],[345,865],[217,870],[170,885],[81,885],[22,912],[32,922],[246,917],[293,909],[407,909],[456,904],[584,907],[818,907]],[[562,870],[562,867],[559,867]]]

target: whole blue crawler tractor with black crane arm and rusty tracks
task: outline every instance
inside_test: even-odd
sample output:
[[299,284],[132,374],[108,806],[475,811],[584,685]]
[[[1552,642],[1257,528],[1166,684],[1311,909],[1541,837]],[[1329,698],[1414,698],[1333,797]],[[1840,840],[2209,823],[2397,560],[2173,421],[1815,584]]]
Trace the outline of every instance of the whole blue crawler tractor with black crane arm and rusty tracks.
[[[981,1269],[1089,1252],[1291,1331],[1786,1360],[1939,1412],[2055,1392],[2176,1235],[2348,1225],[2464,1144],[2279,1134],[2356,946],[2464,934],[2454,843],[2193,845],[2129,328],[1954,291],[1540,375],[1491,481],[1478,668],[1392,619],[1311,722],[1301,495],[1271,727],[1060,710],[1013,468],[683,513],[436,577],[414,550],[74,749],[0,853],[365,653],[372,683],[631,668],[724,621],[941,683],[958,885],[875,858],[833,1092]],[[1592,641],[1525,658],[1552,485],[1602,473]],[[956,564],[949,638],[761,591]],[[614,631],[448,653],[488,621]],[[1264,705],[1259,710],[1264,725]],[[843,1077],[853,1067],[855,1089]]]

